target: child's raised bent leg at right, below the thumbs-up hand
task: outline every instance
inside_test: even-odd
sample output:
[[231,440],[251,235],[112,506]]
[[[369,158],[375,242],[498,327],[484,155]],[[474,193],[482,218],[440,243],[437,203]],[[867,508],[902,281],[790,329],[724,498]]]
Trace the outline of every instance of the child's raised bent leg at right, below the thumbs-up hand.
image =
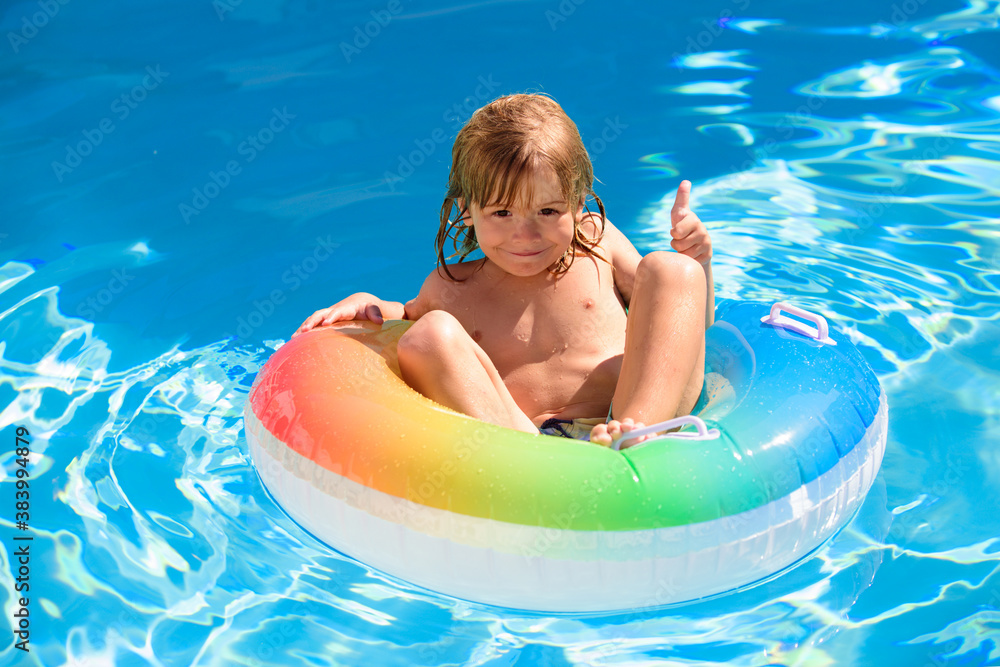
[[704,270],[689,257],[655,252],[642,259],[612,420],[606,428],[595,427],[591,440],[610,444],[633,422],[654,424],[694,408],[705,373],[706,289]]

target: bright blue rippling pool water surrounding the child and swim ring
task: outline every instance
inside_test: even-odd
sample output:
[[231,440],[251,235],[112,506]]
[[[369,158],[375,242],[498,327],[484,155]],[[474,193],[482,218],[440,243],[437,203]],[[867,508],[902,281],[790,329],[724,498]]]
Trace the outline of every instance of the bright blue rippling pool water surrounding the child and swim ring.
[[[0,16],[4,664],[1000,664],[996,0]],[[261,487],[254,374],[313,310],[415,292],[458,126],[524,90],[576,120],[640,249],[666,247],[691,179],[719,296],[821,312],[879,375],[882,472],[800,567],[678,608],[526,614],[373,572]]]

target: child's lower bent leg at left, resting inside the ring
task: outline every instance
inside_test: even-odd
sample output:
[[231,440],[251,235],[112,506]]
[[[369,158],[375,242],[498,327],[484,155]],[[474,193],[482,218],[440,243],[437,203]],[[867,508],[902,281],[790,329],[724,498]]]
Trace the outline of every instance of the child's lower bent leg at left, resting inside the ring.
[[491,424],[537,433],[479,344],[452,315],[433,310],[399,339],[403,380],[431,400]]

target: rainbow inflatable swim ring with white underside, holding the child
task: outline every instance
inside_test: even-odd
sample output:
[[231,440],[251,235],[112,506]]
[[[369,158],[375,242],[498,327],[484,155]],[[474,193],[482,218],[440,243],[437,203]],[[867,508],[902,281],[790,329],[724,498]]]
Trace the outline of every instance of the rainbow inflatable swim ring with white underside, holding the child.
[[853,516],[885,449],[868,364],[782,304],[721,305],[706,368],[731,391],[700,402],[696,432],[621,451],[424,398],[398,376],[407,326],[348,323],[283,345],[250,392],[247,441],[265,487],[320,540],[458,598],[610,611],[757,582]]

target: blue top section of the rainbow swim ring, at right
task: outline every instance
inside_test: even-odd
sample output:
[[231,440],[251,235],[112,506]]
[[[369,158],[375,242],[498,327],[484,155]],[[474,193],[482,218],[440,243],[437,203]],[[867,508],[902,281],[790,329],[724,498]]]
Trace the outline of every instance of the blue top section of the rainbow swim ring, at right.
[[775,500],[834,469],[854,449],[875,419],[881,391],[842,334],[831,330],[837,344],[821,343],[761,322],[769,310],[748,302],[717,309],[717,323],[706,332],[706,368],[726,377],[734,397],[701,416],[722,432],[734,464],[757,477],[753,486]]

